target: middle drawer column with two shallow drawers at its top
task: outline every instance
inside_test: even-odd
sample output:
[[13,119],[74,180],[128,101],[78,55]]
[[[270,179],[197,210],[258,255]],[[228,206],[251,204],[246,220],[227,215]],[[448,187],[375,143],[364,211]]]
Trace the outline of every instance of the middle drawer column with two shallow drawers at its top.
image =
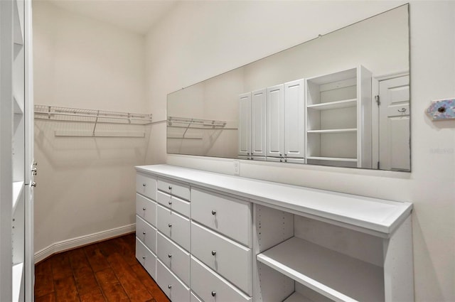
[[190,300],[190,186],[158,178],[156,282],[171,301]]

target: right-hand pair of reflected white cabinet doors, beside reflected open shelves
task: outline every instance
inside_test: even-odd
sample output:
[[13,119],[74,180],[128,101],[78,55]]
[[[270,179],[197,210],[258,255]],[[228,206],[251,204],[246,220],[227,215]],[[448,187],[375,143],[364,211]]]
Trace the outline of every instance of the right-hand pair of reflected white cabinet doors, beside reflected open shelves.
[[304,80],[267,88],[267,161],[304,163]]

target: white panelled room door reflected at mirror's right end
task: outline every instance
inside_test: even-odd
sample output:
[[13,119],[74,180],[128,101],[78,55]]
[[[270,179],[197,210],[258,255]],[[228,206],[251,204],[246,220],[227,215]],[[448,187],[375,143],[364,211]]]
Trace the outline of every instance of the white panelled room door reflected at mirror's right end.
[[379,168],[410,171],[410,77],[379,82]]

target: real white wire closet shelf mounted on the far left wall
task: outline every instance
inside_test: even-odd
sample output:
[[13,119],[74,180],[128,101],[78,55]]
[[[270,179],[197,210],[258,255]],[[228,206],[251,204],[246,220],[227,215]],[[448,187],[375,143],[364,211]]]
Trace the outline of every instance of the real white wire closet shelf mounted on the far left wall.
[[35,119],[93,124],[92,131],[55,131],[55,136],[145,137],[144,131],[97,131],[97,124],[148,125],[152,122],[151,114],[110,112],[38,104],[35,105]]

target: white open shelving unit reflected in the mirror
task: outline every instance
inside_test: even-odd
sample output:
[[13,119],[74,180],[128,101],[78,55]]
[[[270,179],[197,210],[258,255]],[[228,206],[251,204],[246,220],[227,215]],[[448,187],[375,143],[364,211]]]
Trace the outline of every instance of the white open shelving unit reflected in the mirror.
[[371,168],[371,72],[306,80],[306,163]]

